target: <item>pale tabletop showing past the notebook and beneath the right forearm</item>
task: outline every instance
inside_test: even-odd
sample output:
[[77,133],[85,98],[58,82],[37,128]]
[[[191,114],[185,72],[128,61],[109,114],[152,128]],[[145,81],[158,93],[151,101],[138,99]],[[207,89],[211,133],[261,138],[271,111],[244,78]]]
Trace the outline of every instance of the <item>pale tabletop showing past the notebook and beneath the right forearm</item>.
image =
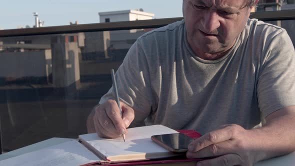
[[[73,140],[71,138],[58,138],[58,137],[53,137],[50,139],[46,139],[13,151],[9,151],[7,153],[1,154],[0,155],[0,160],[2,159],[6,159],[6,158],[10,158],[13,156],[17,156],[23,153],[27,153],[30,151],[34,151],[34,150],[38,150],[44,147],[48,147],[48,146],[52,146],[58,143],[62,143],[62,142],[66,142],[66,141],[70,141]],[[275,158],[271,158],[271,159],[267,159],[264,161],[260,161],[256,164],[254,164],[255,166],[274,166],[274,165],[283,165],[283,166],[294,166],[295,165],[295,152],[292,152],[290,154],[287,155],[283,155],[283,156],[279,156],[279,157],[275,157]]]

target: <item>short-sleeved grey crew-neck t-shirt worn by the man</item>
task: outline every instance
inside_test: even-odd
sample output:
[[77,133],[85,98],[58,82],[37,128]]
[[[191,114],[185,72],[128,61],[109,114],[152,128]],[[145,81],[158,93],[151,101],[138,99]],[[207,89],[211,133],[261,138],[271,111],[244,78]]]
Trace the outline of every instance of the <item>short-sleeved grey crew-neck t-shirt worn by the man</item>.
[[[202,134],[230,123],[248,129],[295,105],[294,55],[283,28],[248,19],[225,56],[203,60],[188,45],[182,20],[140,36],[115,76],[134,124],[145,119]],[[110,88],[99,103],[112,96]]]

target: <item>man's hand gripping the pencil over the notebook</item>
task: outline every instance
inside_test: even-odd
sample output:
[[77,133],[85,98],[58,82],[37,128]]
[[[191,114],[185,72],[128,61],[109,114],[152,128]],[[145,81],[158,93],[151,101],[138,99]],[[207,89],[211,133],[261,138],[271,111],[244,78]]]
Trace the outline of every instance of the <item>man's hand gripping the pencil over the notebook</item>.
[[95,108],[93,123],[100,137],[116,138],[127,132],[126,128],[134,119],[134,110],[123,102],[120,105],[122,117],[115,100],[109,99]]

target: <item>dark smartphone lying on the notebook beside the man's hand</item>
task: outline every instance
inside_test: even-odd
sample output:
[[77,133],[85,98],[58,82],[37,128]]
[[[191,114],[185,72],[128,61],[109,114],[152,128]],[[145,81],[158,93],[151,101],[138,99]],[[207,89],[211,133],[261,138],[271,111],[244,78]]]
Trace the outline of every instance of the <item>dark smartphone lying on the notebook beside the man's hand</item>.
[[173,152],[187,151],[188,144],[193,141],[193,138],[182,133],[152,135],[150,138],[160,146]]

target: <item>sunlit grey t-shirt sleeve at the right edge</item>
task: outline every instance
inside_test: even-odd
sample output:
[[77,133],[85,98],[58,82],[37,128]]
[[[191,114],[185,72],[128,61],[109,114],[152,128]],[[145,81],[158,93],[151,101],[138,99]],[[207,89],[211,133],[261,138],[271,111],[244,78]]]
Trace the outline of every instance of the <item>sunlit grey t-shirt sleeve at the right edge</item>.
[[295,105],[295,52],[287,32],[276,34],[267,48],[257,82],[258,104],[264,118]]

